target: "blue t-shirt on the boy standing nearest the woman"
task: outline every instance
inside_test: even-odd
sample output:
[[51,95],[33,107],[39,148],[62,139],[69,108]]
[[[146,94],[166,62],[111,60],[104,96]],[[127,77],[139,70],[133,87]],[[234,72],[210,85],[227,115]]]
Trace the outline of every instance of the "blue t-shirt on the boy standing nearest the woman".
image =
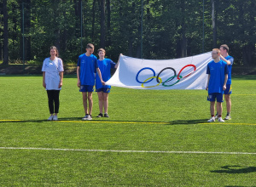
[[78,66],[80,67],[80,82],[81,85],[94,86],[96,68],[98,68],[97,58],[91,54],[81,54],[79,56]]

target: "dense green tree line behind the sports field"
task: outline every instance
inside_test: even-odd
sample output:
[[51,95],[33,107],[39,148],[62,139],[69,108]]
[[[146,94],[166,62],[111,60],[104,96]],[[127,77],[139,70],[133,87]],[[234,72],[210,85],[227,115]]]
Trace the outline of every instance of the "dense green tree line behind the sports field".
[[254,0],[0,0],[0,59],[43,62],[49,47],[76,62],[86,43],[143,59],[173,59],[228,44],[256,65]]

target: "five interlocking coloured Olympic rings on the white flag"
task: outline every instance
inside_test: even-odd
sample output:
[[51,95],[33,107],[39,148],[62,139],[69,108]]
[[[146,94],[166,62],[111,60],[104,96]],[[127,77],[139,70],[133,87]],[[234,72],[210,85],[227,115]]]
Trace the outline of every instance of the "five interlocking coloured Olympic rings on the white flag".
[[[183,71],[185,68],[189,67],[189,66],[194,67],[194,70],[191,71],[191,72],[189,72],[189,73],[188,73],[187,75],[185,75],[185,76],[181,76],[182,71]],[[141,82],[141,81],[138,80],[138,77],[139,77],[139,74],[140,74],[142,71],[144,71],[144,70],[150,70],[150,71],[152,71],[152,72],[153,72],[153,77],[149,77],[149,78],[147,78],[145,81]],[[163,71],[166,71],[166,70],[171,70],[171,71],[173,71],[174,75],[173,75],[172,77],[168,77],[168,78],[166,79],[166,81],[163,82],[162,78],[160,78],[160,75],[161,75],[161,73],[163,73]],[[141,69],[140,71],[137,72],[136,81],[139,82],[139,83],[141,83],[143,88],[153,88],[153,87],[159,86],[160,84],[161,84],[162,86],[164,86],[164,87],[172,87],[172,86],[174,86],[175,84],[177,84],[177,82],[179,82],[182,78],[189,77],[195,70],[196,70],[196,66],[195,66],[195,65],[185,65],[185,66],[183,66],[183,68],[182,68],[182,69],[178,72],[178,74],[177,74],[176,71],[175,71],[172,67],[166,67],[166,68],[162,69],[162,70],[158,73],[157,76],[155,76],[155,71],[154,71],[152,68],[150,68],[150,67],[144,67],[143,69]],[[172,83],[172,84],[167,85],[167,82],[171,82],[172,80],[174,80],[175,77],[177,77],[177,81],[174,82],[174,83]],[[146,83],[148,83],[148,82],[152,82],[154,78],[156,79],[156,82],[157,82],[156,85],[148,86],[148,87],[145,87],[145,86],[144,86],[144,84],[146,84]]]

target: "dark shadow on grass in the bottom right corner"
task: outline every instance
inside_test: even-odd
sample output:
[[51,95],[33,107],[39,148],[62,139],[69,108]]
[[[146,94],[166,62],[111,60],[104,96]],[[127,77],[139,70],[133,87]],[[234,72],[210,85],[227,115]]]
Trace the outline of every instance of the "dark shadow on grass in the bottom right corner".
[[256,172],[256,167],[241,167],[241,166],[224,166],[221,167],[222,170],[214,170],[211,173],[231,173],[231,174],[240,174],[240,173],[254,173]]

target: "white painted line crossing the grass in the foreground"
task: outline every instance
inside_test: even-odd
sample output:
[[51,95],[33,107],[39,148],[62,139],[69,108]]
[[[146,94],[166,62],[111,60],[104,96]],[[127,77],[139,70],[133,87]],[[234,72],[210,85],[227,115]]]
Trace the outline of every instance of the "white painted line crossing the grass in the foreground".
[[209,154],[209,155],[256,155],[250,152],[208,152],[208,151],[165,151],[165,150],[79,150],[79,149],[55,149],[35,147],[0,147],[0,150],[61,150],[84,152],[119,152],[119,153],[168,153],[168,154]]

